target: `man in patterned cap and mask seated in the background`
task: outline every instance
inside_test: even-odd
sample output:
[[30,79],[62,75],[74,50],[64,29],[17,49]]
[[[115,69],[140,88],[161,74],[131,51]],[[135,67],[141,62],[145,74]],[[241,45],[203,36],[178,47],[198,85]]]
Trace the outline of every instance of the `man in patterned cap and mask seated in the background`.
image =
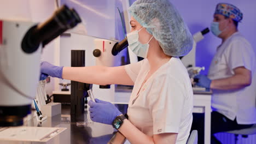
[[[221,143],[213,135],[222,131],[249,128],[256,123],[255,53],[238,32],[243,19],[232,4],[217,4],[211,31],[222,39],[217,47],[208,76],[197,75],[196,85],[212,89],[211,143]],[[197,129],[203,143],[203,116],[194,114],[191,129]]]

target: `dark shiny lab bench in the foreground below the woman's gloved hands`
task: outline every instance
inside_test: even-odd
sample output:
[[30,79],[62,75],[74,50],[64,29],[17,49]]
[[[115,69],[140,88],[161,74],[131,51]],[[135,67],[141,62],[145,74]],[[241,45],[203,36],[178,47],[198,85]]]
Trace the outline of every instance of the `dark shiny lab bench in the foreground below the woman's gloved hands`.
[[[88,108],[87,108],[88,109]],[[88,110],[85,111],[85,118],[88,116]],[[33,111],[32,111],[33,113]],[[52,137],[47,142],[26,142],[26,141],[0,141],[0,143],[61,143],[61,144],[84,144],[84,143],[108,143],[114,136],[116,130],[112,125],[90,122],[84,126],[77,126],[76,122],[71,122],[70,105],[61,106],[61,114],[47,117],[43,122],[38,122],[35,117],[25,121],[25,127],[57,127],[66,128],[61,133]],[[127,143],[127,142],[126,142]]]

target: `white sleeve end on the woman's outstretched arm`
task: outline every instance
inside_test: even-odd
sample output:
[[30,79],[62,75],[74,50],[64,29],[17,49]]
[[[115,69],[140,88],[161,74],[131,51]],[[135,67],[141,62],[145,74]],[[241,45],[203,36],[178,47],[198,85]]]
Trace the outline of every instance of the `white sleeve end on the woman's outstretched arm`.
[[131,80],[133,82],[135,82],[137,79],[137,76],[138,76],[139,70],[141,70],[143,61],[144,60],[139,61],[137,63],[125,65],[125,71],[126,71],[127,75],[129,75],[129,77],[131,78]]

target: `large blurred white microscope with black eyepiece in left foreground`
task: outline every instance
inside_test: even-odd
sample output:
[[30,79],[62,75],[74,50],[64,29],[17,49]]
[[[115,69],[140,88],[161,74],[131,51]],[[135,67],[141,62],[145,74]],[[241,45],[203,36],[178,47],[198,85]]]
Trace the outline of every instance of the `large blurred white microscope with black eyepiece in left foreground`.
[[0,20],[0,127],[23,124],[36,95],[42,47],[79,22],[79,15],[66,5],[38,25]]

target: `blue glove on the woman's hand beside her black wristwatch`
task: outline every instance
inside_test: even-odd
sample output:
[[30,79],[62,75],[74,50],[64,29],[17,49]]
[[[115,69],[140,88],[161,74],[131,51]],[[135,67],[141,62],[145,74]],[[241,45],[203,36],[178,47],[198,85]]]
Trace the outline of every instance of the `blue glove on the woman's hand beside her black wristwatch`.
[[88,103],[90,105],[90,117],[94,122],[112,125],[114,119],[122,114],[117,107],[107,101],[99,99],[95,99],[95,101],[96,103],[90,100]]

